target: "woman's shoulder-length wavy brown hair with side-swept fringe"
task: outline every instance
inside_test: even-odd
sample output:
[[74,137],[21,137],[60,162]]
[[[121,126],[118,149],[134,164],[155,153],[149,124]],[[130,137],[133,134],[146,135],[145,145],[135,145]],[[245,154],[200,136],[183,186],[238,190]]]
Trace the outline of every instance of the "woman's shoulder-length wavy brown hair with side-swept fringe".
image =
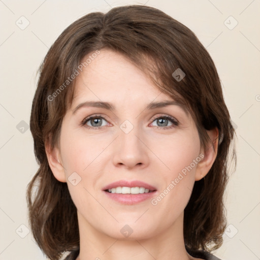
[[[184,242],[190,250],[219,248],[226,226],[223,194],[229,155],[236,161],[235,150],[230,149],[235,132],[220,80],[209,53],[190,29],[162,11],[138,5],[78,19],[54,42],[40,67],[30,117],[40,168],[27,188],[29,221],[36,242],[53,260],[66,251],[72,251],[73,259],[79,250],[76,207],[67,183],[59,182],[50,170],[45,143],[51,137],[51,148],[58,146],[62,118],[72,104],[75,82],[64,82],[79,70],[85,55],[104,48],[123,54],[161,91],[184,104],[197,124],[204,147],[208,143],[206,130],[218,128],[214,164],[203,179],[195,182],[184,210]],[[177,69],[186,75],[181,81],[172,76]],[[57,92],[62,84],[62,91]]]

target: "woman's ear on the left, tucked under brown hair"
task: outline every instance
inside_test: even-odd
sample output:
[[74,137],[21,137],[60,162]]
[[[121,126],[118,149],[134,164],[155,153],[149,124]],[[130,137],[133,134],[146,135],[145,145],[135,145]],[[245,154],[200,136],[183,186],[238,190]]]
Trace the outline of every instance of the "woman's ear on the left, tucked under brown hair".
[[60,182],[66,182],[66,174],[62,166],[59,149],[56,147],[51,149],[50,138],[45,143],[45,151],[54,177]]

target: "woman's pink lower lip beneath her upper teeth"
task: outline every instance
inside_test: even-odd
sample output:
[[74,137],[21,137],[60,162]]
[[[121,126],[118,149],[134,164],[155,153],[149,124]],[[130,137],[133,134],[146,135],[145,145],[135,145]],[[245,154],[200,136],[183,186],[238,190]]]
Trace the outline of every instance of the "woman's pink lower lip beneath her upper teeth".
[[110,193],[107,191],[104,192],[110,199],[125,205],[133,205],[151,199],[152,197],[154,197],[156,193],[156,191],[139,193],[139,194],[120,194],[120,193],[118,194],[118,193]]

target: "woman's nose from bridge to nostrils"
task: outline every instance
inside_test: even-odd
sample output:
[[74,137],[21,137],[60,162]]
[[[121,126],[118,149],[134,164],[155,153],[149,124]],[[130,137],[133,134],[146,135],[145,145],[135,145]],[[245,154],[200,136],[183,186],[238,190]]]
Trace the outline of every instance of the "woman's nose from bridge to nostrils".
[[118,134],[115,140],[113,164],[126,169],[147,167],[149,148],[141,129],[128,123],[120,126]]

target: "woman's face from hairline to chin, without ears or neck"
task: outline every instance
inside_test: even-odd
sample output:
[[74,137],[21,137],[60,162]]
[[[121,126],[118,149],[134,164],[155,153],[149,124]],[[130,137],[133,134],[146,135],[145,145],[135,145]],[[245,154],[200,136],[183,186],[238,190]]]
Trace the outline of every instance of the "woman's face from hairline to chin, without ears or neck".
[[80,225],[120,239],[173,229],[204,156],[190,114],[105,49],[76,77],[57,154]]

